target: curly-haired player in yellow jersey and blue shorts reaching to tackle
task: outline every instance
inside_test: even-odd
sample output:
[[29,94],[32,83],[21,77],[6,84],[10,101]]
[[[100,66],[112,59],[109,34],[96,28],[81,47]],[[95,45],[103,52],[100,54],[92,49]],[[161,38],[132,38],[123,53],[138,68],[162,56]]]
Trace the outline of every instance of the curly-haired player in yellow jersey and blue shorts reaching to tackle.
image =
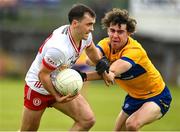
[[[171,94],[141,44],[130,37],[135,32],[136,20],[126,10],[114,8],[105,14],[102,25],[108,38],[102,39],[97,48],[110,62],[109,78],[127,92],[114,130],[137,131],[168,111]],[[99,71],[98,66],[96,70]],[[90,73],[85,75],[87,80],[96,78]]]

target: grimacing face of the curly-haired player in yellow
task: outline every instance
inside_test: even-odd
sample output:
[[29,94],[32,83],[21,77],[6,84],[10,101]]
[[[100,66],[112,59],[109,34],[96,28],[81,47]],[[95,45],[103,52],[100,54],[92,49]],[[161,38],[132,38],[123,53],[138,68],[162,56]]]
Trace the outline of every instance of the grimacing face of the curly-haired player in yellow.
[[110,38],[111,47],[114,50],[120,50],[127,43],[128,32],[126,30],[126,24],[112,25],[108,28],[108,35]]

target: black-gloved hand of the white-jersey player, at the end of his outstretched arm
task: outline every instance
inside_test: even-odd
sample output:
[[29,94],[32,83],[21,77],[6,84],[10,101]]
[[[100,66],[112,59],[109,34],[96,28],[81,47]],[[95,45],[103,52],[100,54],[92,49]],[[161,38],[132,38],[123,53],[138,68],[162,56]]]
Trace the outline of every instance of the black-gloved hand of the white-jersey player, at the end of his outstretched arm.
[[102,75],[105,71],[109,73],[109,61],[105,56],[96,64],[96,71],[99,75]]

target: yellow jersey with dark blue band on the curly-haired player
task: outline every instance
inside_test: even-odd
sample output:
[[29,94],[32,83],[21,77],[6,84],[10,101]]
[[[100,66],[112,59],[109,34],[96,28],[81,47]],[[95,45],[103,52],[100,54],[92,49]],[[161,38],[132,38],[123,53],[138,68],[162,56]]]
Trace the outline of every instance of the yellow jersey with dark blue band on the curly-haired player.
[[97,48],[108,58],[110,64],[118,59],[128,61],[132,67],[115,78],[116,83],[131,97],[147,99],[160,94],[165,83],[151,63],[143,47],[129,37],[127,44],[118,53],[113,53],[109,38],[101,40]]

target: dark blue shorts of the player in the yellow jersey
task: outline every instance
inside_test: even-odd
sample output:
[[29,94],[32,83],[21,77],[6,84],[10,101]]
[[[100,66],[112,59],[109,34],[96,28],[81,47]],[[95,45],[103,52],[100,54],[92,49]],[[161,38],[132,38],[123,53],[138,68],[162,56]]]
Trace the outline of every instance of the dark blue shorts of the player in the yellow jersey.
[[171,93],[168,87],[166,86],[159,95],[156,95],[148,99],[136,99],[127,95],[122,109],[128,115],[131,115],[132,113],[137,111],[144,103],[152,101],[155,102],[161,108],[161,113],[164,115],[169,110],[171,100]]

